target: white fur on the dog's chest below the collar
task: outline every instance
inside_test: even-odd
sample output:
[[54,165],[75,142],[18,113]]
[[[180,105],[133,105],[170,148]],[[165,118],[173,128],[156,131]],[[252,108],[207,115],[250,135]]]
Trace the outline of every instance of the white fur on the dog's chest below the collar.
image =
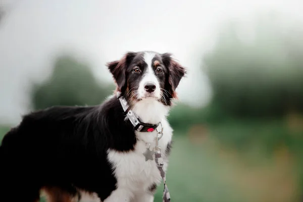
[[[168,159],[165,156],[165,149],[172,139],[173,130],[166,119],[162,120],[162,125],[163,136],[159,140],[159,146],[161,147],[161,153],[164,159],[164,170],[166,171]],[[145,161],[145,157],[143,156],[146,147],[148,147],[148,143],[150,143],[150,149],[155,147],[157,132],[136,132],[136,135],[138,141],[133,151],[121,153],[111,149],[108,150],[108,160],[113,164],[115,169],[114,174],[117,178],[117,190],[122,190],[121,194],[123,194],[123,197],[129,198],[116,198],[123,199],[123,201],[131,201],[131,198],[136,197],[137,194],[148,191],[150,185],[153,183],[159,184],[162,180],[155,160]]]

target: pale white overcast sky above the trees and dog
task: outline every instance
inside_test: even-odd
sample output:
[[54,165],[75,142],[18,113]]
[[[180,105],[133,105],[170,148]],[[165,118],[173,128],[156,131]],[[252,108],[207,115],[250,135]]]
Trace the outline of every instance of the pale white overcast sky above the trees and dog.
[[[1,0],[0,0],[1,1]],[[87,58],[100,79],[112,82],[105,63],[127,51],[171,52],[189,70],[178,93],[203,106],[209,86],[201,56],[215,40],[218,23],[248,20],[258,11],[303,19],[299,1],[6,0],[0,24],[0,123],[16,123],[27,111],[29,79],[48,76],[60,49]]]

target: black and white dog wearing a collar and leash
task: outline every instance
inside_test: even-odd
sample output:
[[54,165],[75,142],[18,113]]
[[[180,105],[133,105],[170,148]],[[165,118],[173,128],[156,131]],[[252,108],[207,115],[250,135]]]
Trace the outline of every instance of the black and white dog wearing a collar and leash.
[[166,117],[186,70],[171,54],[155,52],[129,52],[108,68],[117,89],[102,105],[32,112],[5,135],[1,202],[37,201],[40,190],[54,202],[78,201],[79,193],[105,202],[154,201],[162,178],[143,153],[163,129],[167,170],[173,130]]

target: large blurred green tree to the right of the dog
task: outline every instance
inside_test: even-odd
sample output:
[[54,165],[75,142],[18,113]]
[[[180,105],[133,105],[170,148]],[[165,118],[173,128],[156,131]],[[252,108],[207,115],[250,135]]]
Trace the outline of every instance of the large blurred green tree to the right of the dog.
[[204,58],[219,109],[237,117],[303,111],[303,31],[281,22],[259,18],[250,41],[240,37],[240,23],[221,30],[213,52]]

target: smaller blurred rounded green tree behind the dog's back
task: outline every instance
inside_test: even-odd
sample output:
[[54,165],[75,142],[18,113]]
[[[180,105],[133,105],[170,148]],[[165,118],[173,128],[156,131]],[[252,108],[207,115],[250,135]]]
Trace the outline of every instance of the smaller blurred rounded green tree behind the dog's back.
[[55,105],[98,105],[112,94],[114,85],[98,83],[84,62],[71,56],[59,57],[52,76],[32,89],[35,110]]

